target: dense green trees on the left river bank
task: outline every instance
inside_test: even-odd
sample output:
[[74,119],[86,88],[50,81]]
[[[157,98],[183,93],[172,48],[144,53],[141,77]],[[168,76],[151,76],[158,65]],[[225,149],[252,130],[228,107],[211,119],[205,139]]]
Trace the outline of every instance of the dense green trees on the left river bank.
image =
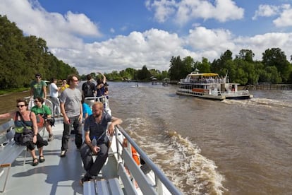
[[47,42],[34,35],[24,36],[16,23],[0,15],[1,89],[27,88],[41,73],[44,80],[67,78],[78,71],[48,51]]

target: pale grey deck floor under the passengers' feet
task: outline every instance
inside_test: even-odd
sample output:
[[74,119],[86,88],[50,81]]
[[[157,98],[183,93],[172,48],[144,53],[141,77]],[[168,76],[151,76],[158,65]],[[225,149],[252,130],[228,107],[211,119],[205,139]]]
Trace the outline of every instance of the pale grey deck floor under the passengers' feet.
[[[44,138],[47,138],[47,131],[44,131]],[[62,129],[53,127],[53,133],[54,140],[50,141],[48,146],[44,146],[45,161],[33,167],[30,153],[27,153],[23,165],[25,156],[23,151],[13,162],[6,190],[1,194],[83,194],[83,187],[79,181],[85,170],[73,141],[75,135],[71,135],[66,157],[60,158]],[[4,184],[6,171],[7,169],[0,177],[1,187]]]

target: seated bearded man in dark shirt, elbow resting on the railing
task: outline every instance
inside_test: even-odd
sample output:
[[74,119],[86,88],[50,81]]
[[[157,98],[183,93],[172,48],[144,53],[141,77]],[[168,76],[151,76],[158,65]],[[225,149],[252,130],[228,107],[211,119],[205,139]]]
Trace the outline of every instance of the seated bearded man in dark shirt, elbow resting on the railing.
[[[93,104],[92,113],[90,117],[85,119],[85,141],[80,149],[80,155],[86,171],[85,176],[80,180],[81,185],[83,185],[83,182],[97,177],[108,156],[110,143],[107,133],[112,136],[114,134],[114,126],[122,123],[121,119],[111,117],[107,112],[104,112],[102,102]],[[109,127],[107,128],[108,124]],[[92,138],[94,137],[97,140],[97,146],[92,145]],[[97,155],[95,162],[93,162],[92,155]]]

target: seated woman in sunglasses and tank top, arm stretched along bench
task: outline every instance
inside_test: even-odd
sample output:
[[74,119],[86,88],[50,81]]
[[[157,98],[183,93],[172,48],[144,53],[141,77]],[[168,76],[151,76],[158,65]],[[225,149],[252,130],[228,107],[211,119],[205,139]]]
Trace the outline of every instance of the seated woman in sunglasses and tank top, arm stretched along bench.
[[[42,147],[47,146],[48,142],[44,141],[42,136],[38,134],[37,118],[35,117],[34,112],[30,112],[28,110],[28,102],[26,102],[24,99],[18,99],[16,100],[16,107],[18,107],[17,112],[0,114],[0,119],[14,117],[15,128],[16,132],[18,133],[22,133],[25,126],[33,131],[34,136],[32,141],[27,143],[27,148],[32,155],[32,166],[38,165],[39,162],[44,162],[44,153]],[[37,149],[39,150],[39,160],[37,160],[37,155],[35,154],[35,145],[37,145]]]

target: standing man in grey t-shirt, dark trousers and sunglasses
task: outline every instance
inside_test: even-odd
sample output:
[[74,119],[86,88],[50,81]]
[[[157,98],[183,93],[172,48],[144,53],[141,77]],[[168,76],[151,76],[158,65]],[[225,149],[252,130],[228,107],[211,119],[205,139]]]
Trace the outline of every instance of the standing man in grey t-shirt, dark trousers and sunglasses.
[[61,157],[66,156],[68,141],[71,134],[71,126],[75,131],[75,145],[79,150],[82,145],[82,118],[83,110],[81,104],[81,92],[78,87],[78,78],[75,75],[68,76],[69,88],[61,93],[60,107],[63,114],[63,136],[61,146]]

